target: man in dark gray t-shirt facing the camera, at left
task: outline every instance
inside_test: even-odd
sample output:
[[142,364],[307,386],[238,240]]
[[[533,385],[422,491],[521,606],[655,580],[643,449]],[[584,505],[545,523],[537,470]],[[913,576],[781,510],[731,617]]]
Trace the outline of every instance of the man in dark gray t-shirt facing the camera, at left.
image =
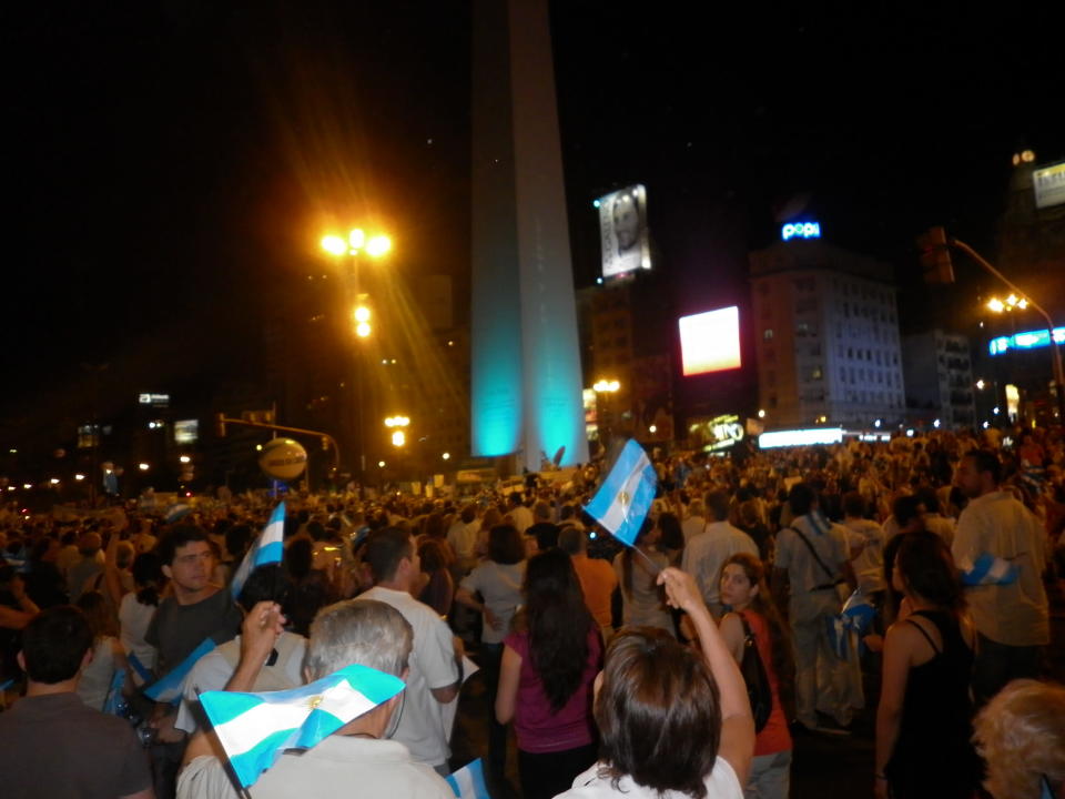
[[[144,640],[159,649],[162,677],[180,666],[204,638],[215,644],[233,639],[242,617],[229,588],[211,583],[214,553],[206,530],[195,525],[174,527],[160,543],[159,555],[172,595],[159,604]],[[185,734],[174,727],[176,716],[176,707],[160,704],[152,717],[156,741],[152,765],[161,799],[173,796],[185,748]]]

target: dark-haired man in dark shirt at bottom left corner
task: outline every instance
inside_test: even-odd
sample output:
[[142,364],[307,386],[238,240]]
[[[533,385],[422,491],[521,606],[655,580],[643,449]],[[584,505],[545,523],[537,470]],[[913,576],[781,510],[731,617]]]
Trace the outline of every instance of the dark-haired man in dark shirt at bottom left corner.
[[92,631],[67,606],[38,614],[22,630],[26,697],[0,714],[4,799],[153,799],[148,758],[133,729],[88,707],[78,680],[92,660]]

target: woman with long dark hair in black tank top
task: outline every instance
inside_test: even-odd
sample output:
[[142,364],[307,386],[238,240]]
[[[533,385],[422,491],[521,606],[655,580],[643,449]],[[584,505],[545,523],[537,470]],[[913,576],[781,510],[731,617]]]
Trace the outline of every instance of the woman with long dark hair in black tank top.
[[906,534],[892,583],[905,599],[884,640],[875,796],[968,799],[980,783],[971,741],[975,633],[943,539]]

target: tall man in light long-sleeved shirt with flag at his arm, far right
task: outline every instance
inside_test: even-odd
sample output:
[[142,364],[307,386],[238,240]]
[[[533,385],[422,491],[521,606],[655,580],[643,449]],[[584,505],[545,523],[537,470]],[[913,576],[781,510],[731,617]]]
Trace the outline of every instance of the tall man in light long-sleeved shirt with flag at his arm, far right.
[[967,453],[957,469],[958,486],[970,503],[957,519],[954,562],[964,572],[987,554],[1017,569],[1010,585],[970,586],[965,593],[980,639],[973,669],[977,704],[1010,680],[1038,677],[1038,650],[1051,640],[1043,588],[1045,536],[1035,515],[1000,489],[1001,477],[998,456],[986,449]]

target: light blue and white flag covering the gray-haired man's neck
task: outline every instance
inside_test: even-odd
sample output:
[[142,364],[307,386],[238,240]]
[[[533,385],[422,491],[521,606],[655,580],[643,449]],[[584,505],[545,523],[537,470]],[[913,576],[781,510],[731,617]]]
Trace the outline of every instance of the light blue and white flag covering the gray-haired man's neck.
[[398,677],[354,664],[300,688],[205,691],[200,702],[241,786],[247,788],[285,749],[310,749],[403,688]]

